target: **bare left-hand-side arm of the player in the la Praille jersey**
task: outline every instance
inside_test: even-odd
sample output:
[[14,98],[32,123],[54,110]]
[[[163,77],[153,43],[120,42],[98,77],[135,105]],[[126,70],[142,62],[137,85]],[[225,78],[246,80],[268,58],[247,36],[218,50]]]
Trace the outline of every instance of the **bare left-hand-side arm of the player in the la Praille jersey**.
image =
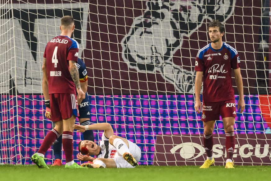
[[196,72],[196,78],[195,78],[195,111],[197,113],[200,113],[201,109],[201,100],[200,100],[200,93],[201,93],[201,83],[202,83],[202,76],[203,72]]

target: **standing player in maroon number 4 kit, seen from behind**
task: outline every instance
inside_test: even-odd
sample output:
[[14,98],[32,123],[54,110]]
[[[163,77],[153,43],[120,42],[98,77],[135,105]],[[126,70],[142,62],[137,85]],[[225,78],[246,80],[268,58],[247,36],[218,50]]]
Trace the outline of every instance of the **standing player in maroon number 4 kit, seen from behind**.
[[73,160],[73,130],[75,118],[79,116],[76,91],[79,100],[85,98],[76,67],[79,46],[70,38],[74,28],[74,19],[71,16],[62,17],[61,35],[49,41],[44,51],[43,94],[50,95],[51,116],[55,127],[47,133],[38,152],[31,157],[39,168],[49,168],[44,161],[44,155],[61,134],[66,156],[65,168],[84,168]]

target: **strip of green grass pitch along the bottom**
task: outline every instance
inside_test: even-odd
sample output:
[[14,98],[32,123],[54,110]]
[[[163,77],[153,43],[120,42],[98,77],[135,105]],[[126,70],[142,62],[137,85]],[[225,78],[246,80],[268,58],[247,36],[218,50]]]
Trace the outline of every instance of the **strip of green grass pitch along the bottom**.
[[145,165],[134,169],[65,169],[64,166],[39,169],[36,165],[0,165],[0,173],[1,181],[271,180],[271,166],[238,165],[235,169],[225,169],[224,166],[199,169],[199,166]]

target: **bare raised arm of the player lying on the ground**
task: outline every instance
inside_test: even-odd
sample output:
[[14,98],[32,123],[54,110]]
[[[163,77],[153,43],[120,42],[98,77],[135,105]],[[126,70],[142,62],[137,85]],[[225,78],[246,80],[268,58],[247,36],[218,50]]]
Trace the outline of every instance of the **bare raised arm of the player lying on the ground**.
[[114,135],[113,128],[109,123],[97,123],[85,126],[75,124],[74,129],[77,129],[76,132],[85,132],[86,130],[104,130],[104,135],[107,138]]

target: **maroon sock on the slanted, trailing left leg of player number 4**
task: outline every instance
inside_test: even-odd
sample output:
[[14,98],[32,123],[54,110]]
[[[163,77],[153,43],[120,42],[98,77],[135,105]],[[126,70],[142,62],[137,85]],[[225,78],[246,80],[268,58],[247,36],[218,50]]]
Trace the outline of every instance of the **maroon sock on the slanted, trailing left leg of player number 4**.
[[50,146],[52,146],[58,137],[59,133],[55,129],[48,132],[38,149],[38,153],[45,155],[46,151],[50,148]]

